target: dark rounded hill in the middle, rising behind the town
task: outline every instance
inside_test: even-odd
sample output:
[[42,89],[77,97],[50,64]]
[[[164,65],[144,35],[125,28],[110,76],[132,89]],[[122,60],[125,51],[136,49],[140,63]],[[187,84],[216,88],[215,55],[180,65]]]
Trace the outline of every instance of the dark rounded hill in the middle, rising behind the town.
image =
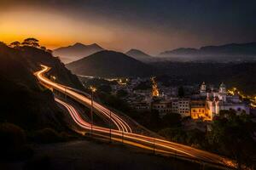
[[125,54],[101,51],[79,59],[67,68],[78,75],[98,77],[143,77],[152,74],[152,67]]

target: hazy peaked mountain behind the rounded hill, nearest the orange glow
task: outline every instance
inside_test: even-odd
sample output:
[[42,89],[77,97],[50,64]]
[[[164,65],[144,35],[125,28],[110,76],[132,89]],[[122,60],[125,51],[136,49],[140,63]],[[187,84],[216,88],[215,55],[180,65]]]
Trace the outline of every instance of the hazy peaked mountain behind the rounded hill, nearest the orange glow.
[[102,51],[103,48],[98,44],[84,45],[83,43],[75,43],[72,46],[56,48],[53,51],[55,56],[59,56],[63,63],[70,63],[72,61],[83,58],[90,54],[94,54],[98,51]]

